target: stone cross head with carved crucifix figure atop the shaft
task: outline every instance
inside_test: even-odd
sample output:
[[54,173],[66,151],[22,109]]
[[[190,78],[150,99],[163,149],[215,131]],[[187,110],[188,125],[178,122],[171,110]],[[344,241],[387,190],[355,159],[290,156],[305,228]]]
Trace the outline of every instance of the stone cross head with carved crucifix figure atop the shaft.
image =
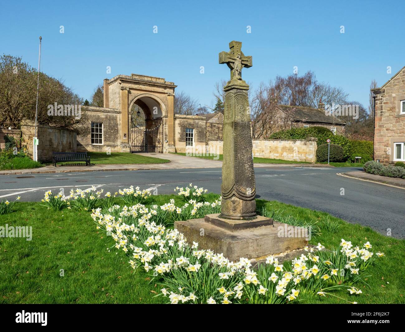
[[252,57],[245,56],[241,51],[242,43],[240,41],[231,41],[229,43],[229,52],[220,53],[220,64],[226,63],[230,71],[230,79],[242,79],[242,68],[252,67]]

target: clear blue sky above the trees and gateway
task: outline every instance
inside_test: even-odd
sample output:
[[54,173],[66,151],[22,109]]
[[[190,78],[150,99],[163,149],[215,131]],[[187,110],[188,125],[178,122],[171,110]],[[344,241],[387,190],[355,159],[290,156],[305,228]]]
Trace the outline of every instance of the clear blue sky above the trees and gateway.
[[139,73],[173,81],[205,105],[215,82],[229,78],[218,53],[237,40],[253,56],[243,71],[252,88],[298,66],[367,107],[371,79],[381,86],[405,65],[404,9],[402,0],[8,1],[0,52],[36,67],[41,35],[41,70],[85,99],[105,77]]

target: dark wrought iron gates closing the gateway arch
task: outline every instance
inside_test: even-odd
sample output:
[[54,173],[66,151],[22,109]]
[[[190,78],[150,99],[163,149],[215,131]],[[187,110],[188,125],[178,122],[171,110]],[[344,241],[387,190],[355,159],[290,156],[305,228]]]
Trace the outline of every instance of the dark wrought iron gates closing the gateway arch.
[[131,128],[131,152],[163,153],[162,121],[152,129],[146,129],[145,126]]

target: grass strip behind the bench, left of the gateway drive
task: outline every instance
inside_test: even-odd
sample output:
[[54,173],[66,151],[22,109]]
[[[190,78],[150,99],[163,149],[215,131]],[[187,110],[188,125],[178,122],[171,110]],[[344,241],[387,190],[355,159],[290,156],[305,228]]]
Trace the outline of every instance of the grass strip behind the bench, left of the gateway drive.
[[[93,165],[102,164],[161,164],[169,163],[170,160],[155,158],[149,156],[142,156],[141,154],[130,153],[130,152],[111,152],[107,154],[106,152],[87,152],[90,156],[90,163]],[[73,162],[74,165],[85,165],[85,163]],[[52,163],[48,163],[51,165]],[[71,165],[72,163],[58,163],[58,165]]]

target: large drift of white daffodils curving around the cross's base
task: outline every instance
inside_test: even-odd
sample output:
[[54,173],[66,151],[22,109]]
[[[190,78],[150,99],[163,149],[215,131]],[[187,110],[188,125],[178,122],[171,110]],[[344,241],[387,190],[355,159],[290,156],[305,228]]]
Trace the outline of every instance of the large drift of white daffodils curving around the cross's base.
[[93,210],[92,218],[97,229],[113,237],[115,248],[130,256],[132,268],[142,267],[158,278],[156,282],[162,285],[159,296],[166,296],[173,304],[288,303],[301,293],[323,296],[341,287],[356,296],[361,293],[354,287],[360,273],[375,257],[384,256],[371,253],[369,242],[360,248],[342,239],[341,250],[326,251],[318,244],[305,248],[307,254],[290,264],[283,265],[277,257],[269,256],[253,268],[249,259],[232,262],[212,250],[199,250],[198,243],[188,244],[177,229],[166,228],[165,218],[198,218],[206,214],[207,207],[218,209],[220,200],[214,207],[211,204],[190,200],[176,207],[171,200],[151,208],[115,205]]

